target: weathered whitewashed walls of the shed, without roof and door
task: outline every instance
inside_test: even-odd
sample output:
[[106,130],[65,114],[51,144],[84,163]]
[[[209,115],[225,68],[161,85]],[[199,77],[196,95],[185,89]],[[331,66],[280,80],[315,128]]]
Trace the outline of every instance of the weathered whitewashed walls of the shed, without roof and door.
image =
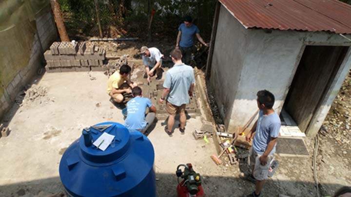
[[[219,108],[225,108],[221,114],[229,131],[244,125],[254,114],[258,90],[272,91],[276,99],[273,108],[280,112],[306,45],[350,46],[351,42],[340,35],[323,32],[244,29],[221,7],[210,82]],[[350,66],[345,63],[341,68],[331,92],[337,93],[341,86],[339,78],[342,82]],[[322,103],[319,127],[335,95],[328,94]]]

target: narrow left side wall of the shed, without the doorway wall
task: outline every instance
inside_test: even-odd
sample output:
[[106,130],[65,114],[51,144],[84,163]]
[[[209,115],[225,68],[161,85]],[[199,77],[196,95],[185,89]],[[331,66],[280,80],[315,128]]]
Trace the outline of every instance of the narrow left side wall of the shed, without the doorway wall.
[[[224,118],[231,120],[232,106],[239,85],[246,53],[246,29],[221,5],[211,70],[212,90]],[[228,80],[230,79],[230,80]]]

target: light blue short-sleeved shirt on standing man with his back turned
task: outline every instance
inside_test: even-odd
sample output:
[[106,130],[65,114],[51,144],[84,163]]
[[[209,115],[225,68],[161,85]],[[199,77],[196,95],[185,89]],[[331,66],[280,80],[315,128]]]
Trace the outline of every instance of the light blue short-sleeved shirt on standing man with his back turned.
[[170,79],[170,93],[168,101],[176,106],[189,103],[189,87],[195,83],[194,69],[185,64],[175,64],[166,72],[166,78]]

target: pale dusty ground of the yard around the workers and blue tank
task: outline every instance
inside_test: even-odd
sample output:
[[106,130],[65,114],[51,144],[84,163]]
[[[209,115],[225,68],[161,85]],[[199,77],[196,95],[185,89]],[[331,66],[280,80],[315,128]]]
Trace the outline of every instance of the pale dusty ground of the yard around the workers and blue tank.
[[[164,49],[162,52],[165,56],[168,56],[173,46],[154,44]],[[140,58],[137,51],[141,43],[110,42],[100,45],[109,48],[108,56],[129,54],[132,59]],[[123,123],[121,110],[109,102],[105,92],[106,83],[107,76],[102,72],[45,73],[34,82],[35,85],[27,91],[24,99],[23,95],[19,96],[17,103],[2,120],[12,131],[8,137],[0,138],[0,196],[63,195],[59,161],[65,149],[88,125],[107,121]],[[33,96],[36,94],[38,97]],[[341,98],[345,105],[350,106],[350,94]],[[351,185],[350,129],[344,129],[345,126],[331,129],[334,111],[345,109],[334,108],[327,118],[327,121],[331,121],[325,123],[326,131],[319,138],[317,174],[321,182],[321,195],[324,196],[332,195],[341,186]],[[176,129],[170,138],[163,131],[163,121],[158,121],[148,135],[155,148],[157,196],[176,197],[176,167],[189,162],[203,176],[202,185],[208,197],[241,197],[251,193],[254,184],[239,179],[240,171],[246,169],[245,164],[224,163],[217,166],[210,158],[215,153],[212,139],[209,139],[209,143],[194,140],[191,132],[201,127],[201,119],[200,116],[188,119],[185,135],[180,135]],[[335,119],[334,125],[339,125],[338,121]],[[342,121],[341,125],[350,125],[350,118]],[[346,131],[345,135],[343,131]],[[267,181],[263,197],[277,197],[279,194],[291,197],[316,195],[312,171],[315,141],[306,138],[305,143],[310,157],[276,157],[280,165],[275,176]]]

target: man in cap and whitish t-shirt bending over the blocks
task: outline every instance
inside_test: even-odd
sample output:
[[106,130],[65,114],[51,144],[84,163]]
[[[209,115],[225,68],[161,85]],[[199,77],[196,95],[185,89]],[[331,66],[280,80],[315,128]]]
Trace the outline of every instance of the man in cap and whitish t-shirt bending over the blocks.
[[159,73],[162,66],[163,54],[156,48],[147,48],[146,46],[141,47],[140,53],[142,54],[142,59],[145,65],[145,75],[144,78],[150,82],[152,76],[156,76],[156,80],[162,77]]

